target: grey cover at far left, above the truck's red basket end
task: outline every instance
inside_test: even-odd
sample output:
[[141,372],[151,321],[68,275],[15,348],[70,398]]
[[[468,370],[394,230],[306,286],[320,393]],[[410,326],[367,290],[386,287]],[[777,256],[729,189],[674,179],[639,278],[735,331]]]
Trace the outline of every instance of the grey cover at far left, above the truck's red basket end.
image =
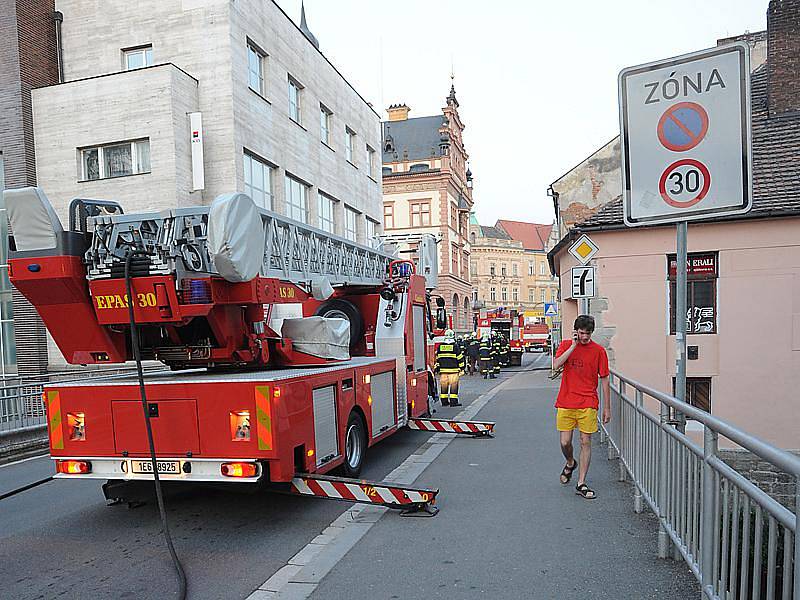
[[17,250],[50,250],[58,247],[58,236],[64,228],[41,188],[6,190],[3,199]]

